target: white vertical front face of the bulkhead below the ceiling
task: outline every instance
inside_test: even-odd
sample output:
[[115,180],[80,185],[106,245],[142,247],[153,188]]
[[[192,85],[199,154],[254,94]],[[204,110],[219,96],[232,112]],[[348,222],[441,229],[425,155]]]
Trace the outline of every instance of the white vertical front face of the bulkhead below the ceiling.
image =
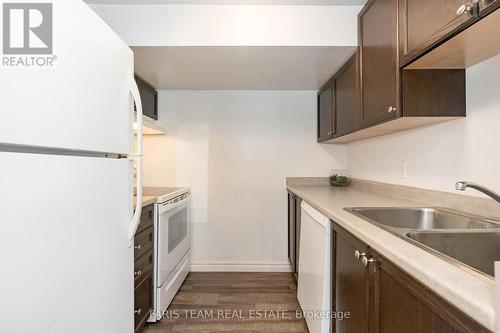
[[91,5],[130,46],[356,46],[361,6]]

